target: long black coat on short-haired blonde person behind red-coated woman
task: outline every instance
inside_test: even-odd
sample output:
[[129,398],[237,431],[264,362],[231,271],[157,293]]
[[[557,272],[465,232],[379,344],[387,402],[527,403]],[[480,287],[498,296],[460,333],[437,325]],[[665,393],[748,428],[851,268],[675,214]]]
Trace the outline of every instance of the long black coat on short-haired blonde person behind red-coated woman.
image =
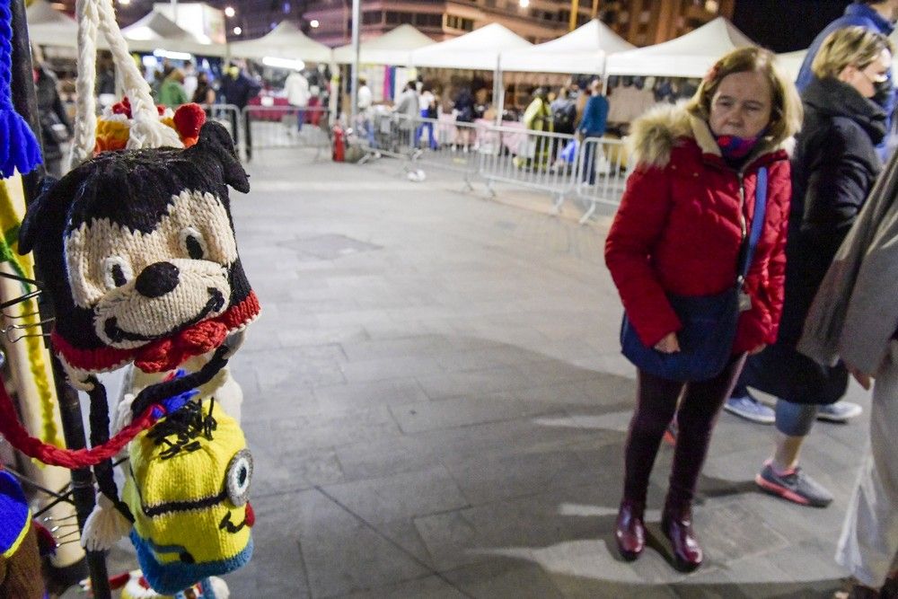
[[848,372],[820,366],[795,347],[814,295],[882,168],[876,145],[885,137],[885,112],[834,78],[814,79],[802,101],[779,337],[749,358],[742,382],[794,403],[828,404],[845,392]]

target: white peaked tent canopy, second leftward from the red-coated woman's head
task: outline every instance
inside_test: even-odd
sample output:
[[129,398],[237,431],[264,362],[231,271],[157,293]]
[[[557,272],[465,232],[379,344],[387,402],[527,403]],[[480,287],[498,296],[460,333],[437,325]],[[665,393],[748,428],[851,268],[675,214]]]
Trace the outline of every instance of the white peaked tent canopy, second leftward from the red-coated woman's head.
[[602,75],[605,57],[636,48],[603,22],[593,19],[556,40],[502,52],[503,71]]

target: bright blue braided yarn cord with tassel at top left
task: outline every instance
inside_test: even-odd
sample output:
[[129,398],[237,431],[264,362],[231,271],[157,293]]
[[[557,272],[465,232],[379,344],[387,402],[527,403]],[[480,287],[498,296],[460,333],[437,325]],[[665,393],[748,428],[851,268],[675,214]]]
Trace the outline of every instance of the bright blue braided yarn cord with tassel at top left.
[[40,144],[13,107],[13,13],[0,0],[0,175],[31,172],[41,163]]

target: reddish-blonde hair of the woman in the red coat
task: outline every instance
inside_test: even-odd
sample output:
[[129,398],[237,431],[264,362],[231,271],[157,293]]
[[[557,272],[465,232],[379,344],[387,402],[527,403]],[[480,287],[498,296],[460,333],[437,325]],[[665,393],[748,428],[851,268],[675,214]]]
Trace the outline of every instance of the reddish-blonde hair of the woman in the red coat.
[[779,145],[798,132],[804,112],[801,98],[798,97],[795,84],[779,70],[774,54],[764,48],[736,48],[721,57],[701,80],[699,89],[686,103],[686,110],[708,120],[711,99],[718,91],[720,82],[726,75],[734,73],[760,73],[770,84],[770,125],[765,137],[771,144]]

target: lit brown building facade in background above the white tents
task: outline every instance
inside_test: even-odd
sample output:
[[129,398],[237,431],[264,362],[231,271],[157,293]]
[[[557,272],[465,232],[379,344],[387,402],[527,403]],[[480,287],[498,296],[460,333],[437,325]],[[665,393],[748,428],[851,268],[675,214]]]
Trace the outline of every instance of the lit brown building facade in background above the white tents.
[[[122,26],[136,21],[160,0],[116,0]],[[189,0],[185,0],[189,1]],[[352,0],[206,0],[230,6],[229,40],[258,38],[278,22],[297,23],[329,46],[349,43]],[[63,0],[74,12],[75,0]],[[733,17],[735,0],[362,0],[362,39],[374,38],[409,23],[434,40],[446,40],[490,22],[499,22],[533,43],[568,31],[577,4],[577,25],[598,16],[622,38],[637,46],[672,40],[718,15]],[[316,26],[315,26],[316,25]],[[239,28],[239,33],[235,33]]]

